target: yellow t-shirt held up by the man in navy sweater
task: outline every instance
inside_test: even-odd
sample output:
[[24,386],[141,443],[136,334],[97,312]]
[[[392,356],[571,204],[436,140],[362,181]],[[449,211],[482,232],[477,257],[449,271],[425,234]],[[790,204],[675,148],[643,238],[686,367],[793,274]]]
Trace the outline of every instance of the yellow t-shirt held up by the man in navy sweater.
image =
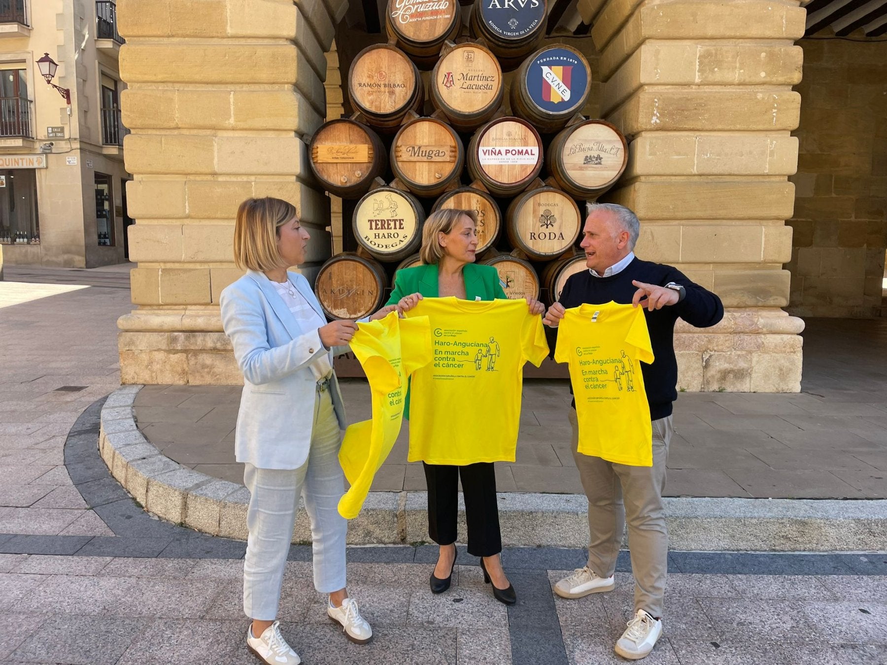
[[583,455],[653,465],[653,430],[640,364],[653,363],[642,307],[581,305],[558,326],[554,360],[569,363]]

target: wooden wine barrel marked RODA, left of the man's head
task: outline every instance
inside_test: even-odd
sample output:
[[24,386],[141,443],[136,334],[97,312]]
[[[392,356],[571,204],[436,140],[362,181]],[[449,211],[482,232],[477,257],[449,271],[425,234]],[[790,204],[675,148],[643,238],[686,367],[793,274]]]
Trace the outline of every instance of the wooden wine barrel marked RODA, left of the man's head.
[[516,197],[506,212],[512,246],[538,261],[568,251],[582,228],[576,201],[553,187],[540,187]]

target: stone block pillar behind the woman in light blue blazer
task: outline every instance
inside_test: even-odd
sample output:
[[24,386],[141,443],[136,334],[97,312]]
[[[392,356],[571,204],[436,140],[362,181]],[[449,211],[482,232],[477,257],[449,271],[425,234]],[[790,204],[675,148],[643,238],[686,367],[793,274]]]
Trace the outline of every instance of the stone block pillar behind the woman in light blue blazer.
[[130,183],[131,314],[123,383],[239,383],[218,298],[240,201],[294,203],[329,255],[329,200],[302,136],[326,115],[326,51],[347,0],[119,0],[122,119]]

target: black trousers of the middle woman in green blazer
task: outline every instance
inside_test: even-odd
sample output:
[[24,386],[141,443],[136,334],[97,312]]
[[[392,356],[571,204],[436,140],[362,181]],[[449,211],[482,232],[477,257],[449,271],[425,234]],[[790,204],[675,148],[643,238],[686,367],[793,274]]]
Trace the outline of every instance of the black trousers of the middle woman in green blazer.
[[459,477],[465,497],[468,527],[468,553],[491,557],[502,552],[498,526],[496,473],[492,462],[465,466],[435,465],[422,462],[428,483],[428,536],[436,544],[456,542],[459,515]]

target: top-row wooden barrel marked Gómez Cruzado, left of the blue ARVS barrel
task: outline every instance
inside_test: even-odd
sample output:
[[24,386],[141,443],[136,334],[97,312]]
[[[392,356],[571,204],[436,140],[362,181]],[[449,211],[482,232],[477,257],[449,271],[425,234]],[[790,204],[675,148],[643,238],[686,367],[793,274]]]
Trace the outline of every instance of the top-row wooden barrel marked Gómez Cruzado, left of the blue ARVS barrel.
[[462,25],[455,0],[389,0],[385,29],[401,51],[422,69],[435,66],[443,43]]

